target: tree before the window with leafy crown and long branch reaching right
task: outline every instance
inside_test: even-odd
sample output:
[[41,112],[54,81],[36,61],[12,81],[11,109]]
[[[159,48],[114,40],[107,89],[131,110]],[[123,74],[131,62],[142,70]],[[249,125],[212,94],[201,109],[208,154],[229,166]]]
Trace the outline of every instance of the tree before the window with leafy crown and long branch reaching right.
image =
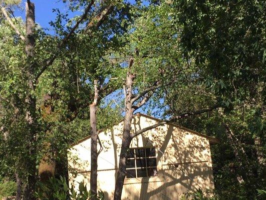
[[[160,99],[168,100],[167,95],[171,88],[179,90],[189,81],[196,80],[195,74],[198,67],[191,64],[189,59],[182,57],[179,51],[178,33],[171,25],[169,17],[169,13],[173,11],[172,5],[168,2],[150,5],[136,20],[134,32],[128,36],[129,46],[127,48],[130,49],[131,57],[124,86],[125,118],[114,199],[121,199],[126,175],[127,151],[133,137],[165,124],[174,117],[184,118],[201,114],[220,106],[219,104],[210,105],[195,112],[187,109],[179,115],[171,114],[168,120],[162,120],[138,132],[131,132],[131,120],[137,109],[143,108],[148,102],[155,102],[158,108]],[[151,107],[151,104],[149,106]],[[163,106],[165,107],[166,104]],[[160,109],[160,111],[164,112],[165,109]]]

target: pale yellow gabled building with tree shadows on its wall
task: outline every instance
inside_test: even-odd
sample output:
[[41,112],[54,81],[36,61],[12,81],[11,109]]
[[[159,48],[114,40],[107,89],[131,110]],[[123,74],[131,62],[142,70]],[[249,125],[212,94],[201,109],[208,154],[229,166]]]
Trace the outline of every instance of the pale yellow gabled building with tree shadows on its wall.
[[[132,131],[158,122],[151,116],[137,114]],[[103,150],[98,156],[98,188],[105,199],[112,199],[115,188],[123,121],[99,131]],[[216,138],[166,123],[133,138],[127,160],[122,199],[179,199],[196,188],[214,189],[210,144]],[[100,149],[100,144],[98,144]],[[69,149],[69,184],[78,189],[84,180],[89,189],[90,137]]]

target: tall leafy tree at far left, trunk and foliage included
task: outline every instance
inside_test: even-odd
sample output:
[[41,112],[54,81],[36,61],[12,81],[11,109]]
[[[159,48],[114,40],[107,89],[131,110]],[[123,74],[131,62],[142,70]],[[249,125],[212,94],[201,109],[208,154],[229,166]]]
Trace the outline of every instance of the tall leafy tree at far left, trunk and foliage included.
[[[47,35],[41,29],[36,28],[34,21],[34,4],[29,0],[26,2],[27,14],[25,37],[22,36],[24,34],[24,30],[22,29],[18,31],[18,28],[16,27],[16,25],[18,25],[18,27],[23,27],[23,23],[19,21],[18,24],[16,24],[13,19],[10,19],[10,15],[5,9],[6,4],[2,4],[1,7],[2,13],[5,15],[7,22],[13,28],[13,31],[11,31],[11,33],[5,38],[8,38],[8,44],[14,47],[13,51],[7,51],[3,53],[2,56],[2,63],[6,64],[6,67],[2,69],[3,74],[1,76],[1,83],[3,83],[3,86],[1,87],[1,94],[7,92],[5,95],[1,96],[1,113],[4,114],[5,109],[7,111],[7,114],[1,117],[1,124],[3,125],[1,126],[1,132],[7,136],[7,139],[3,143],[2,147],[7,150],[6,152],[10,152],[10,155],[13,155],[12,159],[9,159],[3,154],[3,158],[5,158],[7,163],[10,162],[8,165],[11,165],[12,162],[16,162],[15,169],[19,171],[19,176],[23,179],[23,183],[25,185],[23,193],[26,199],[33,198],[33,189],[37,178],[36,164],[38,164],[41,154],[44,154],[44,159],[42,159],[43,162],[41,162],[41,164],[51,162],[50,156],[48,156],[49,154],[47,153],[51,154],[52,151],[58,149],[59,152],[56,154],[60,155],[62,146],[65,145],[65,143],[69,143],[69,141],[63,141],[65,138],[69,139],[69,136],[64,136],[62,138],[62,143],[59,144],[61,147],[54,145],[55,142],[51,142],[51,140],[47,140],[47,138],[54,138],[56,134],[62,130],[62,124],[65,121],[74,120],[80,110],[89,104],[89,102],[84,103],[88,96],[81,95],[86,94],[86,85],[88,84],[85,84],[85,87],[81,88],[81,85],[79,85],[81,83],[78,83],[78,79],[81,79],[86,83],[86,81],[90,81],[90,79],[87,78],[87,75],[95,73],[95,78],[97,77],[101,86],[104,86],[101,96],[107,95],[108,92],[111,92],[111,89],[113,89],[110,89],[111,85],[106,85],[104,82],[108,73],[106,66],[104,73],[101,71],[97,74],[97,65],[95,65],[95,61],[101,59],[101,56],[97,56],[97,53],[104,52],[103,46],[107,46],[107,44],[104,43],[102,44],[102,48],[100,48],[99,46],[101,45],[101,40],[97,39],[101,38],[100,36],[104,36],[102,37],[103,40],[106,39],[110,31],[112,31],[110,26],[118,29],[120,28],[120,32],[123,31],[123,26],[117,25],[118,22],[121,22],[122,17],[115,19],[115,22],[117,23],[106,19],[108,19],[108,15],[111,14],[112,10],[115,10],[115,13],[112,16],[115,16],[115,14],[121,10],[123,11],[124,4],[122,1],[112,3],[75,1],[73,3],[74,5],[73,7],[70,7],[71,9],[84,7],[84,13],[76,19],[68,20],[66,15],[59,12],[57,20],[54,23],[51,23],[55,27],[58,37]],[[127,13],[121,13],[121,16],[123,14]],[[60,21],[63,20],[68,20],[68,22],[71,21],[71,23],[74,24],[71,26],[71,23],[69,23],[70,25],[67,25],[66,29],[64,29],[60,23]],[[17,22],[17,20],[15,21]],[[79,29],[79,24],[84,23],[85,21],[89,21],[87,22],[85,29]],[[106,23],[104,23],[105,21]],[[1,22],[5,23],[5,21]],[[6,25],[4,27],[6,28]],[[106,29],[101,29],[103,27]],[[97,30],[99,30],[97,33],[101,33],[99,37],[95,36],[95,32]],[[76,34],[78,31],[81,31],[82,34]],[[16,37],[17,34],[20,38]],[[92,36],[92,38],[94,37],[95,41],[91,42],[88,35]],[[90,44],[97,46],[99,49],[96,50],[96,53],[91,52],[91,57],[94,57],[94,60],[92,61],[88,61],[87,59],[84,59],[84,57],[80,56],[79,60],[83,61],[82,67],[84,67],[86,63],[89,63],[90,68],[88,70],[89,73],[80,74],[81,76],[84,75],[83,77],[76,77],[77,89],[79,91],[83,90],[81,94],[76,95],[79,99],[82,97],[81,100],[78,101],[77,99],[72,98],[72,96],[68,96],[68,94],[72,93],[71,90],[62,90],[61,88],[58,88],[58,86],[66,86],[65,83],[68,83],[67,81],[71,80],[73,74],[75,74],[71,70],[73,69],[71,68],[73,65],[71,63],[72,60],[70,59],[72,58],[71,55],[73,55],[73,51],[77,51],[77,43],[75,43],[75,41],[79,40],[79,42],[84,42],[86,39],[90,40]],[[110,43],[112,43],[112,40],[116,40],[116,37],[114,36],[109,40]],[[15,41],[15,43],[13,43],[13,41]],[[26,56],[24,56],[24,52],[21,51],[23,42],[25,42],[26,46]],[[8,49],[8,47],[10,47],[7,47],[7,45],[4,44],[3,46],[5,47],[3,49]],[[109,47],[111,47],[111,45]],[[85,49],[81,50],[85,51]],[[64,53],[70,55],[70,57],[64,56]],[[22,59],[20,62],[11,63],[7,61],[8,57],[15,60]],[[61,62],[62,65],[58,62]],[[13,67],[13,69],[9,70],[10,67]],[[82,67],[76,68],[77,71],[82,70]],[[56,77],[58,74],[62,75],[62,70],[64,69],[67,69],[66,71],[71,74],[66,81],[62,81],[63,79],[61,77],[63,76],[60,78]],[[19,77],[21,76],[22,78],[14,78],[17,77],[16,75]],[[25,82],[27,82],[27,84]],[[52,94],[47,92],[50,89],[53,91]],[[92,92],[87,93],[89,93],[89,95],[92,94]],[[63,101],[65,97],[67,98],[66,102],[68,103]],[[8,108],[11,109],[8,110]],[[26,117],[24,118],[24,116]],[[15,128],[14,126],[19,128]],[[22,136],[23,132],[26,132],[25,136]],[[65,130],[63,132],[65,132]],[[16,135],[16,137],[13,137],[13,135]],[[20,143],[17,143],[17,139],[20,139]],[[22,145],[19,146],[19,152],[15,152],[13,148],[18,150],[17,145],[21,143]],[[47,147],[48,149],[43,150],[42,147]],[[53,174],[53,172],[47,174]]]

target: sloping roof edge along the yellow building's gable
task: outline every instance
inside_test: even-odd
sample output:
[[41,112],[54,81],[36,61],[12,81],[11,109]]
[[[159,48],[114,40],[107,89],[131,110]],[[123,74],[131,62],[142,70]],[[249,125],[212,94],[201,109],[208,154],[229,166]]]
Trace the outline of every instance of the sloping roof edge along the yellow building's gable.
[[[147,115],[147,114],[143,114],[143,113],[137,113],[137,114],[134,114],[133,117],[135,117],[135,116],[144,116],[144,117],[146,117],[146,118],[150,118],[150,119],[153,119],[153,120],[156,120],[156,121],[162,121],[161,119],[158,119],[158,118],[155,118],[155,117],[153,117],[153,116],[149,116],[149,115]],[[113,126],[114,126],[114,125],[117,125],[117,124],[119,124],[119,123],[121,123],[121,122],[123,122],[123,121],[124,121],[124,119],[122,119],[122,120],[120,120],[119,122],[113,124]],[[206,134],[202,134],[202,133],[200,133],[200,132],[197,132],[197,131],[191,130],[191,129],[189,129],[189,128],[186,128],[186,127],[183,127],[183,126],[177,125],[177,124],[175,124],[175,123],[167,122],[167,123],[165,123],[165,124],[167,124],[167,125],[173,125],[173,126],[175,126],[175,127],[178,127],[178,128],[180,128],[180,129],[186,130],[186,131],[191,132],[191,133],[193,133],[193,134],[197,134],[197,135],[199,135],[199,136],[205,137],[205,138],[207,138],[207,139],[210,141],[211,144],[217,144],[217,143],[220,143],[219,139],[217,139],[217,138],[215,138],[215,137],[211,137],[211,136],[208,136],[208,135],[206,135]],[[106,130],[106,129],[108,129],[108,128],[109,128],[109,127],[102,128],[102,129],[98,130],[98,133],[103,132],[104,130]],[[89,138],[90,138],[90,135],[88,135],[88,136],[86,136],[86,137],[84,137],[84,138],[82,138],[82,139],[80,139],[80,140],[78,140],[78,141],[72,143],[71,146],[75,146],[75,145],[77,145],[77,144],[81,143],[82,141],[85,141],[86,139],[89,139]]]

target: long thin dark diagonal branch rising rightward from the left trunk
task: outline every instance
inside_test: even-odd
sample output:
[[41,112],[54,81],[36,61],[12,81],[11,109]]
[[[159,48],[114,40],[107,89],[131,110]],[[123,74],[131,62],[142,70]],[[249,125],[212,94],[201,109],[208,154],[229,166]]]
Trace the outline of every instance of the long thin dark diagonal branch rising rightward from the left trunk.
[[78,27],[78,25],[86,18],[86,16],[87,16],[91,6],[93,5],[93,3],[94,3],[94,0],[91,0],[90,3],[88,4],[88,6],[86,7],[84,13],[81,15],[80,19],[76,21],[75,25],[71,28],[69,33],[62,39],[62,41],[60,42],[60,44],[57,47],[57,50],[53,53],[53,55],[49,59],[47,59],[45,61],[43,67],[40,69],[40,71],[35,76],[35,78],[34,78],[35,81],[37,81],[39,76],[47,69],[48,66],[50,66],[53,63],[53,61],[55,60],[55,58],[57,57],[57,55],[60,51],[60,48],[66,44],[66,42],[68,41],[70,36],[74,33],[74,31]]

